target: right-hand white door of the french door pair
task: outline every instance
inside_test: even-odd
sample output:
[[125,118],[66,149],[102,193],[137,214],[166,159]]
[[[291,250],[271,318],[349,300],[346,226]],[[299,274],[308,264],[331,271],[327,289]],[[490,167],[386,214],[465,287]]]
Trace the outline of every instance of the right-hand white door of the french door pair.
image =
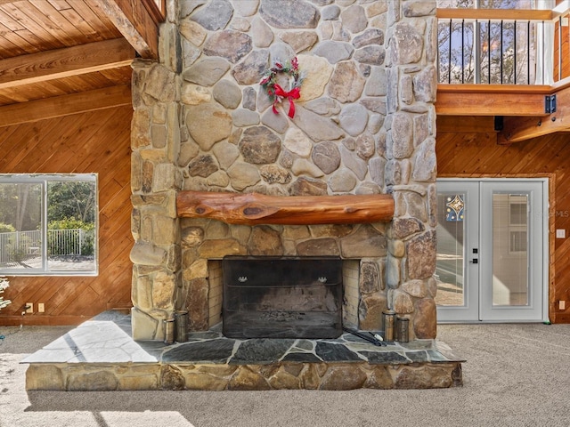
[[480,317],[484,321],[548,320],[546,181],[481,182]]

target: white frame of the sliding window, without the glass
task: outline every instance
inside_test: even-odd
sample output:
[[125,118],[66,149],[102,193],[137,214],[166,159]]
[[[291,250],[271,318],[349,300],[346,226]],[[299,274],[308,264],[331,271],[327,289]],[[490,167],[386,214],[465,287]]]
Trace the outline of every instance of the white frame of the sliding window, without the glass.
[[[47,257],[47,188],[53,182],[93,182],[94,194],[94,268],[93,270],[50,270]],[[0,184],[40,184],[41,185],[41,236],[42,268],[6,269],[0,266],[2,276],[23,277],[95,277],[99,275],[99,175],[98,173],[0,173]]]

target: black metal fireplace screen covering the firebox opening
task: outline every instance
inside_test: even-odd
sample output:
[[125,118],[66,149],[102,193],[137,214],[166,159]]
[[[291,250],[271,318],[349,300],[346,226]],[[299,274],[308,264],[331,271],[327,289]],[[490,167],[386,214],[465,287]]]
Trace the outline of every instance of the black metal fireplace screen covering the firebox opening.
[[338,257],[228,256],[223,261],[223,331],[230,338],[338,338]]

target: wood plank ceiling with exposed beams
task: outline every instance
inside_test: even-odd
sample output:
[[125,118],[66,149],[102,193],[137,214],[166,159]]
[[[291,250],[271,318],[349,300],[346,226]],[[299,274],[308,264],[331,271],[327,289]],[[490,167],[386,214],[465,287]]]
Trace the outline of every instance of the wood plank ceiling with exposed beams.
[[131,103],[164,0],[0,0],[0,126]]

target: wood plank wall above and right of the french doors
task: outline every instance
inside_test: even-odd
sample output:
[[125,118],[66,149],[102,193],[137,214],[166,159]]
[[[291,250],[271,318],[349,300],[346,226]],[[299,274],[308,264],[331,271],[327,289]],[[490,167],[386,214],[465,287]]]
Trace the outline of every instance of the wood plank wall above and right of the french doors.
[[[437,134],[436,156],[439,177],[550,176],[550,321],[570,323],[570,133],[501,146],[493,130],[460,133],[458,126],[457,133]],[[566,239],[555,238],[556,229],[566,230]]]

